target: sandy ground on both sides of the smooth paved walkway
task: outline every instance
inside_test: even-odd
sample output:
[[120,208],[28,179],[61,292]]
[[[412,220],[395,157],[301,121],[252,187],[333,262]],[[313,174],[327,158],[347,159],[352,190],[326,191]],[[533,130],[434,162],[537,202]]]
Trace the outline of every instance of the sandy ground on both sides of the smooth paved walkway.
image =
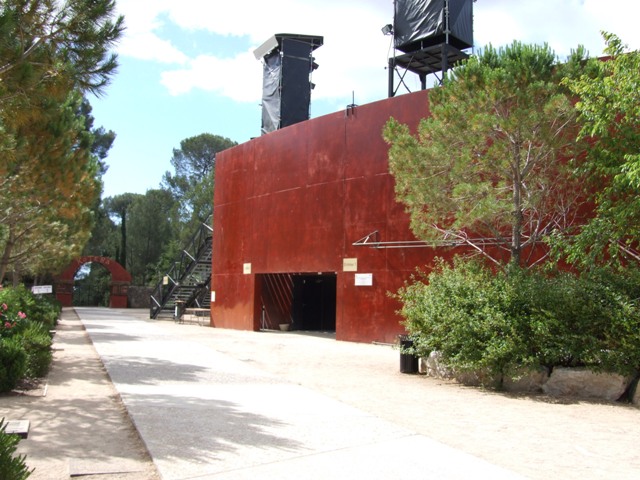
[[[144,316],[139,312],[138,320],[144,321]],[[90,328],[98,332],[105,325]],[[242,362],[516,475],[640,478],[640,409],[636,407],[505,395],[404,375],[399,373],[398,352],[386,346],[173,322],[156,322],[154,328],[167,338],[212,350],[220,358]],[[115,348],[118,338],[109,340],[105,345]],[[144,341],[126,339],[134,340]],[[29,439],[20,444],[29,465],[36,468],[31,478],[159,478],[73,310],[65,310],[55,348],[46,395],[42,387],[28,395],[0,397],[0,417],[31,421]],[[326,418],[328,423],[333,421]],[[398,458],[398,471],[403,463],[413,461],[422,459]]]

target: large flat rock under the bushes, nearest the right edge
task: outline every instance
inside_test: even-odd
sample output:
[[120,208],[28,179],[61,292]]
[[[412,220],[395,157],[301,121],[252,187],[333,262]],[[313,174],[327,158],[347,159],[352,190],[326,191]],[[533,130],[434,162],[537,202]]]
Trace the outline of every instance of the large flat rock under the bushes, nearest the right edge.
[[629,385],[629,379],[615,373],[595,373],[587,368],[553,369],[542,391],[551,396],[597,398],[614,402]]

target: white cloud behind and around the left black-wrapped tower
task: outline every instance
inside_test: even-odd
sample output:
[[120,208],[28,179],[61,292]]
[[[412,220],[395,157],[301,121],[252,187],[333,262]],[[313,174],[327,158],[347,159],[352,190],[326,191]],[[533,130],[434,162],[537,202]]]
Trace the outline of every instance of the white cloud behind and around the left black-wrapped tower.
[[[313,1],[249,0],[242,3],[241,9],[233,2],[166,1],[140,8],[131,1],[121,8],[133,29],[122,42],[120,54],[179,65],[161,75],[162,85],[172,95],[202,89],[236,101],[259,102],[262,66],[251,52],[281,32],[324,36],[324,46],[314,53],[320,65],[314,73],[318,85],[315,99],[350,99],[355,90],[363,100],[371,100],[386,91],[384,68],[389,37],[384,37],[380,28],[392,20],[391,0],[359,1],[346,6],[340,0],[329,0],[322,6]],[[187,58],[170,39],[158,36],[162,21],[174,22],[184,35],[206,30],[218,35],[246,36],[253,45],[250,52],[237,52],[224,59],[208,52]],[[379,84],[370,81],[374,75]]]

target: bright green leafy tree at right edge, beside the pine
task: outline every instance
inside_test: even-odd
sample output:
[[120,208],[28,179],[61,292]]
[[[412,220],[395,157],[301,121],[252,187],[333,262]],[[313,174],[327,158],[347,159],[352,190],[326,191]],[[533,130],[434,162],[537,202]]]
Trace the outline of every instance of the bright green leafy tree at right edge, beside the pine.
[[579,99],[580,137],[592,145],[583,171],[595,216],[566,238],[570,260],[587,266],[605,256],[640,260],[632,248],[640,236],[640,51],[603,35],[610,58],[593,59],[588,74],[566,80]]

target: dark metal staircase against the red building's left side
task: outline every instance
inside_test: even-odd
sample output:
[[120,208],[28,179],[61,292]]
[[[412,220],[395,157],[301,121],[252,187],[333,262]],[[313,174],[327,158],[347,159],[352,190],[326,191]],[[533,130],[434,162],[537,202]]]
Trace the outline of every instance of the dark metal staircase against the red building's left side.
[[151,293],[149,318],[174,317],[176,306],[208,308],[211,285],[211,217],[191,237],[180,258]]

